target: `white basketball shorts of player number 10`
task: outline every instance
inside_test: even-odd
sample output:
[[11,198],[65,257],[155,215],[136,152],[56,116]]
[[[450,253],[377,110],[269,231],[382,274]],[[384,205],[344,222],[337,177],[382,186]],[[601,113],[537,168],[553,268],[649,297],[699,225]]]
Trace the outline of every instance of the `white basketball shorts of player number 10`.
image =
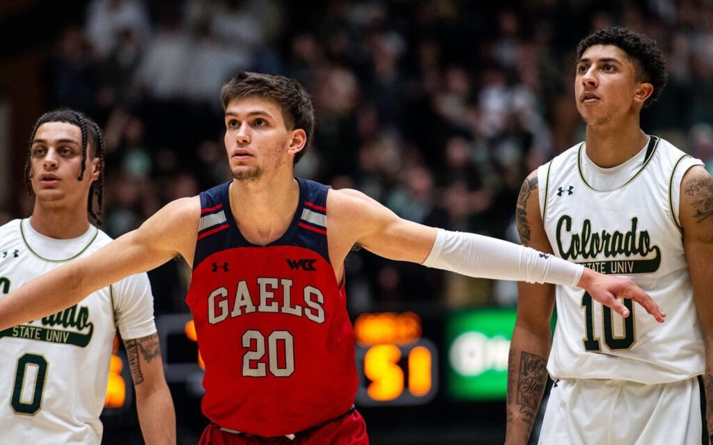
[[697,377],[663,384],[560,379],[550,392],[539,443],[701,444],[701,390]]

